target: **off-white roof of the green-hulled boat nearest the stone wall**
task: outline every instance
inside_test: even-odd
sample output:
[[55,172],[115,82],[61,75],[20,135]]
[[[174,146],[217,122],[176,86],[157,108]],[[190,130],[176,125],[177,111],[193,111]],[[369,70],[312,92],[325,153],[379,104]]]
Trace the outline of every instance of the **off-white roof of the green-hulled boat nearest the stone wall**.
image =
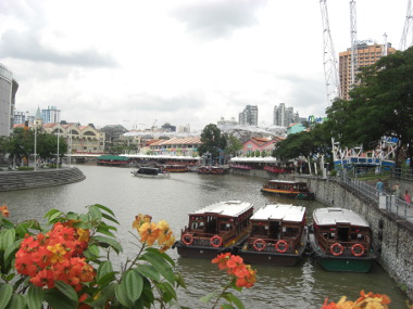
[[317,208],[313,213],[317,226],[350,224],[368,228],[367,221],[359,214],[345,208]]

